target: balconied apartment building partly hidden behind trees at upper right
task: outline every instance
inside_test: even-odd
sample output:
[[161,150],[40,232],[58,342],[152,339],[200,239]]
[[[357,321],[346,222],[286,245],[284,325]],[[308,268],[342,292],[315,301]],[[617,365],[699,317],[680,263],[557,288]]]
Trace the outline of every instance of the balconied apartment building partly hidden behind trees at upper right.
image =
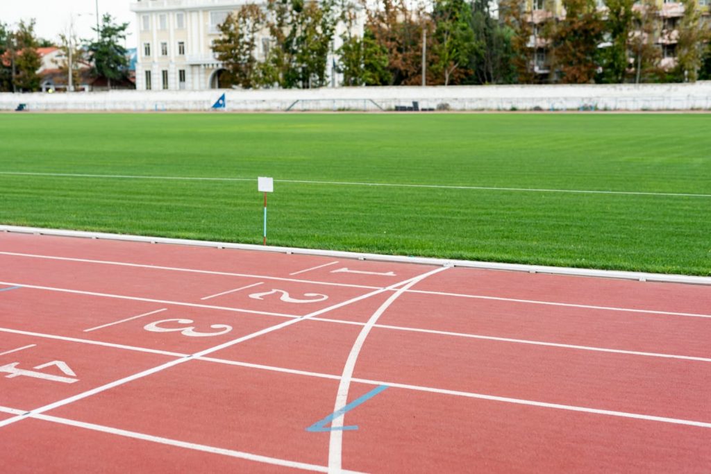
[[[596,0],[599,11],[604,12],[604,0]],[[679,32],[676,29],[684,15],[684,6],[678,1],[656,0],[658,8],[657,31],[654,43],[661,51],[660,67],[671,69],[676,65],[676,45]],[[711,0],[699,0],[699,8],[704,15],[703,21],[708,21]],[[636,7],[638,7],[637,2]],[[543,35],[544,24],[556,18],[565,17],[565,9],[561,0],[526,0],[526,9],[530,12],[531,36],[528,47],[535,49],[533,70],[542,80],[550,76],[550,41]]]

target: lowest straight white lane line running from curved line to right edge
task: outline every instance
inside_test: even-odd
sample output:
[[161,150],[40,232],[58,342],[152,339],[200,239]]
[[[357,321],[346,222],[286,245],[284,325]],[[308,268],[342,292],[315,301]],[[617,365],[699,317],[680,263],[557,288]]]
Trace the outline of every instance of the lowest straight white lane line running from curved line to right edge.
[[371,380],[371,379],[354,378],[353,382],[361,382],[361,383],[370,384],[370,385],[386,384],[388,387],[397,387],[400,389],[417,390],[419,392],[431,392],[434,394],[454,395],[455,397],[467,397],[467,398],[489,400],[491,402],[504,402],[504,403],[512,403],[512,404],[517,404],[517,405],[539,406],[541,408],[552,408],[552,409],[567,410],[567,411],[581,411],[583,413],[591,413],[591,414],[597,414],[597,415],[619,416],[621,418],[631,418],[631,419],[639,419],[639,420],[647,420],[647,421],[659,421],[661,423],[680,424],[680,425],[687,425],[687,426],[699,426],[700,428],[711,428],[711,423],[708,423],[706,421],[695,421],[695,420],[686,420],[686,419],[679,419],[679,418],[670,418],[668,416],[645,415],[645,414],[638,414],[638,413],[629,413],[627,411],[615,411],[615,410],[603,410],[603,409],[597,409],[597,408],[589,408],[587,406],[574,406],[574,405],[564,405],[564,404],[557,404],[557,403],[536,402],[535,400],[526,400],[526,399],[518,399],[518,398],[511,398],[511,397],[497,397],[496,395],[479,394],[479,393],[474,393],[474,392],[461,392],[459,390],[437,389],[437,388],[432,388],[432,387],[422,387],[419,385],[400,384],[397,382],[378,382],[377,380]]

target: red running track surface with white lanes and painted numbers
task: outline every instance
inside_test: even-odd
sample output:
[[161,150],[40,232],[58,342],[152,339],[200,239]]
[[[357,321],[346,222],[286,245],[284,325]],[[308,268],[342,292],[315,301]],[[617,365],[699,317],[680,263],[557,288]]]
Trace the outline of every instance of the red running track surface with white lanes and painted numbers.
[[9,233],[0,282],[0,472],[711,471],[709,286]]

